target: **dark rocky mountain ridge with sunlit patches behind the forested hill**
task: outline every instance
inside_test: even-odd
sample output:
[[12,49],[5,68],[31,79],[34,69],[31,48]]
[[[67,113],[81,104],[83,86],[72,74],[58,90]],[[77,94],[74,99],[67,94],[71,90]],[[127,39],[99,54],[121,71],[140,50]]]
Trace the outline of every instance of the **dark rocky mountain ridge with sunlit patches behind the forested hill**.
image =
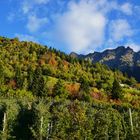
[[93,63],[100,62],[113,69],[119,69],[140,81],[140,52],[135,52],[130,47],[120,46],[116,49],[94,52],[82,57],[77,55],[77,57],[89,59]]

